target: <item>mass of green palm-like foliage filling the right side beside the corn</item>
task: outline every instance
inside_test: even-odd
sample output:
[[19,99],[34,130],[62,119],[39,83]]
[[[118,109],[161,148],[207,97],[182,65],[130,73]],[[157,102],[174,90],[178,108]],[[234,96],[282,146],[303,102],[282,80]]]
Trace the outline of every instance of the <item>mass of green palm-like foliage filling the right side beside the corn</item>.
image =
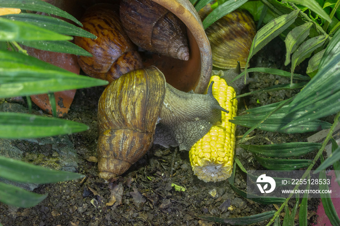
[[[218,1],[220,6],[223,1]],[[215,7],[216,3],[213,7]],[[201,8],[203,6],[200,5]],[[268,169],[297,169],[307,168],[302,178],[309,177],[309,172],[314,164],[322,158],[322,152],[331,138],[335,126],[339,122],[340,114],[340,0],[254,0],[243,3],[239,8],[248,10],[258,21],[255,38],[250,49],[245,71],[246,73],[259,71],[274,75],[290,77],[290,84],[279,84],[242,94],[238,97],[253,95],[260,92],[275,92],[283,89],[301,89],[295,97],[281,102],[248,109],[244,114],[231,120],[233,123],[250,128],[244,135],[245,138],[252,130],[261,129],[281,133],[305,133],[330,128],[323,144],[312,143],[287,143],[273,145],[240,145],[254,153],[255,159]],[[218,9],[215,8],[214,10]],[[229,11],[225,10],[227,14]],[[221,13],[222,14],[222,13]],[[210,24],[210,23],[209,23]],[[285,65],[290,65],[290,73],[276,68],[248,68],[249,61],[255,54],[266,46],[273,38],[280,36],[286,44]],[[306,74],[310,81],[293,82],[304,76],[294,74],[297,65],[308,60]],[[246,78],[246,77],[245,77]],[[320,118],[336,114],[333,125]],[[332,155],[329,156],[317,169],[323,172],[325,168],[333,166],[340,169],[340,149],[333,141]],[[315,152],[313,160],[300,158],[307,153]],[[297,159],[298,158],[298,159]],[[243,166],[235,159],[234,171],[229,179],[230,185],[236,193],[246,197],[246,193],[234,185],[235,167],[246,173]],[[325,177],[320,174],[320,177]],[[336,173],[338,181],[340,175]],[[298,188],[298,185],[295,189]],[[326,188],[323,188],[326,189]],[[291,213],[287,198],[277,210],[268,226],[275,222],[280,225],[279,214],[285,209],[286,216],[283,225],[294,224],[295,212],[298,208],[296,200]],[[300,205],[300,225],[307,225],[307,198],[305,194]],[[333,225],[339,225],[339,217],[329,197],[323,197],[323,206]],[[255,201],[255,200],[254,200]],[[249,223],[250,224],[250,223]]]

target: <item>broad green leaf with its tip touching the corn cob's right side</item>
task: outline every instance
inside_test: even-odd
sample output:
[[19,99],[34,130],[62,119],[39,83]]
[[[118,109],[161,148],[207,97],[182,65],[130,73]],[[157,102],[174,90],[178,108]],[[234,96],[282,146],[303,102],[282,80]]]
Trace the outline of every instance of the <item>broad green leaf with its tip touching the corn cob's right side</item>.
[[[330,128],[330,123],[321,120],[313,120],[305,124],[299,124],[294,127],[285,128],[285,126],[291,121],[301,117],[301,115],[308,113],[309,108],[289,113],[290,107],[286,105],[272,113],[270,116],[266,117],[266,115],[275,110],[277,105],[281,102],[247,110],[246,112],[248,112],[248,114],[236,116],[233,120],[229,121],[248,128],[256,126],[256,129],[271,132],[277,131],[282,133],[304,133]],[[261,123],[259,124],[259,122]]]

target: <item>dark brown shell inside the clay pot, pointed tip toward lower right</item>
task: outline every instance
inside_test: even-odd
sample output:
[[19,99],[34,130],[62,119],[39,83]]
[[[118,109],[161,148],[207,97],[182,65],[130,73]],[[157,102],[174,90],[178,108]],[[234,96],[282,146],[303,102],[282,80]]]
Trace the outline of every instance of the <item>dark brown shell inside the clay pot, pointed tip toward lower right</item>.
[[121,0],[120,19],[139,47],[172,58],[189,60],[186,26],[152,0]]

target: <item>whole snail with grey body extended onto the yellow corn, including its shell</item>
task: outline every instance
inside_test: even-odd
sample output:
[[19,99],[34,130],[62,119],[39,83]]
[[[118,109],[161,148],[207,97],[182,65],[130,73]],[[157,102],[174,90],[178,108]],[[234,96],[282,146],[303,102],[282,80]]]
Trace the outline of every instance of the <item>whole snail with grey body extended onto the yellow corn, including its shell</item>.
[[189,150],[225,111],[209,90],[207,95],[176,90],[154,66],[113,81],[98,106],[99,176],[121,175],[153,142]]

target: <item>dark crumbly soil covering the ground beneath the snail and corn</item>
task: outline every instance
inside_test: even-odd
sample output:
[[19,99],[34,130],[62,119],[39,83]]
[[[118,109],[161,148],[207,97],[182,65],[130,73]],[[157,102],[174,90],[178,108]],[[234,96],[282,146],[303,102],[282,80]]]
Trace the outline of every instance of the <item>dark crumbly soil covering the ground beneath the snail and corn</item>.
[[[252,67],[284,67],[283,42],[277,38],[256,54]],[[301,72],[303,73],[303,71]],[[289,79],[264,73],[252,73],[255,82],[244,92],[260,87],[288,83]],[[83,180],[46,184],[35,189],[38,194],[48,197],[35,207],[22,209],[0,204],[0,223],[4,226],[26,225],[204,225],[214,223],[199,216],[221,218],[242,217],[270,210],[280,205],[260,205],[236,194],[228,180],[205,183],[193,175],[188,152],[174,148],[165,149],[153,145],[150,151],[136,162],[125,174],[110,183],[98,178],[97,163],[97,107],[103,87],[78,90],[71,105],[69,120],[85,123],[90,127],[85,132],[69,136],[79,157],[77,171],[86,177]],[[257,94],[239,100],[238,114],[247,108],[254,108],[281,101],[295,95],[295,91],[278,91]],[[237,141],[247,128],[237,128]],[[272,144],[306,141],[310,134],[287,135],[275,132],[253,131],[246,144]],[[236,157],[246,169],[263,169],[252,154],[236,148]],[[174,160],[174,161],[173,161]],[[173,169],[171,163],[174,162]],[[176,191],[171,184],[185,188]],[[235,185],[245,189],[246,178],[237,170]],[[309,224],[315,222],[318,201],[311,199],[308,210]],[[295,200],[289,202],[292,208]],[[312,202],[315,203],[312,203]],[[281,213],[281,220],[284,213]],[[267,221],[255,225],[265,225]],[[296,224],[297,221],[296,221]]]

